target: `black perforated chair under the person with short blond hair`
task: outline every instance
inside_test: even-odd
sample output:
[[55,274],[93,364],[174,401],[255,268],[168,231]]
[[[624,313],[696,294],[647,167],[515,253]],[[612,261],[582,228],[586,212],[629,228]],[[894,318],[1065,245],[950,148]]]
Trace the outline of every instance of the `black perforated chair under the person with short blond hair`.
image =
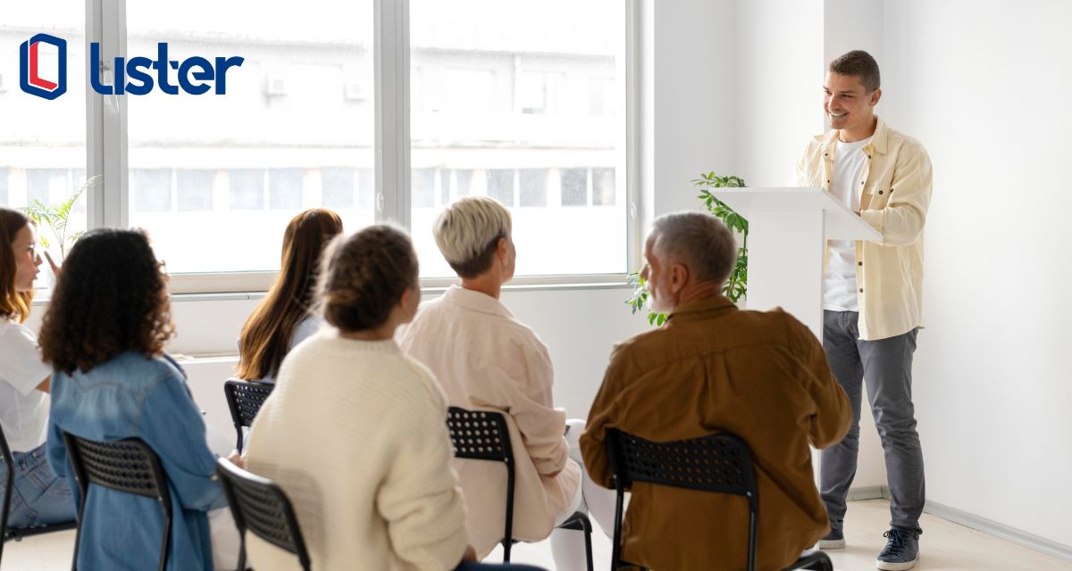
[[[513,448],[510,432],[502,412],[466,410],[452,406],[447,410],[447,429],[455,447],[455,457],[486,460],[506,464],[506,528],[503,530],[503,562],[510,561],[513,540]],[[569,516],[561,529],[584,531],[584,556],[592,566],[592,522],[583,512]]]

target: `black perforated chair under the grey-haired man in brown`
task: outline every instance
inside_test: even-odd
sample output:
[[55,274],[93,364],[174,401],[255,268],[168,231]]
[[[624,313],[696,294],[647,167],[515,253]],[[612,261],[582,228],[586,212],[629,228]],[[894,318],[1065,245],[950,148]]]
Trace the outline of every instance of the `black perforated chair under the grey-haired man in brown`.
[[[611,429],[607,432],[607,452],[617,495],[612,570],[623,565],[637,567],[621,559],[622,511],[625,492],[634,482],[744,496],[748,500],[748,571],[756,569],[759,490],[751,468],[751,452],[743,439],[719,433],[672,442],[652,442]],[[834,571],[834,565],[827,554],[816,550],[805,553],[788,569]]]

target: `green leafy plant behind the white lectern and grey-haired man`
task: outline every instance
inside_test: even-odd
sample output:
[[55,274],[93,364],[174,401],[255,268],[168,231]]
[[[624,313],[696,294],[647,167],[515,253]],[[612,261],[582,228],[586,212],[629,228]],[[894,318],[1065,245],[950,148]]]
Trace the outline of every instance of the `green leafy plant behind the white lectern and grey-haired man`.
[[[701,174],[700,178],[691,181],[700,189],[697,196],[703,201],[703,206],[712,215],[723,221],[723,224],[734,234],[742,237],[741,247],[738,249],[736,262],[730,271],[730,276],[723,285],[723,295],[736,303],[741,298],[747,298],[748,291],[748,221],[738,214],[725,202],[715,198],[711,191],[715,189],[740,189],[744,186],[744,179],[732,175],[719,176],[714,172]],[[632,313],[643,311],[647,302],[647,287],[639,272],[629,274],[629,285],[632,286],[632,295],[626,300]],[[661,326],[667,320],[667,315],[661,313],[647,312],[647,322],[653,326]]]

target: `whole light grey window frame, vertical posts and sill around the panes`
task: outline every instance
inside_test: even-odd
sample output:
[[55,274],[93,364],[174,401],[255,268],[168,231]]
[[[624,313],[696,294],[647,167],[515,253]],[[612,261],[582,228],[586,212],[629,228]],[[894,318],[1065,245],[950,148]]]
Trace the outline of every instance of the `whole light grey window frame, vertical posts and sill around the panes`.
[[[374,62],[374,211],[375,221],[410,229],[412,207],[410,139],[410,0],[373,0]],[[640,2],[626,0],[625,54],[619,64],[624,76],[624,124],[620,133],[620,164],[624,165],[626,199],[625,256],[627,268],[639,267],[639,99]],[[107,62],[126,56],[126,0],[86,0],[86,52],[101,45],[102,72]],[[87,63],[88,64],[88,63]],[[87,227],[130,226],[126,97],[101,95],[86,86],[86,172],[103,183],[87,196]],[[170,276],[172,294],[265,291],[278,272],[199,272]],[[627,272],[519,276],[519,287],[554,288],[584,284],[623,284]],[[444,287],[457,279],[422,279],[421,287]]]

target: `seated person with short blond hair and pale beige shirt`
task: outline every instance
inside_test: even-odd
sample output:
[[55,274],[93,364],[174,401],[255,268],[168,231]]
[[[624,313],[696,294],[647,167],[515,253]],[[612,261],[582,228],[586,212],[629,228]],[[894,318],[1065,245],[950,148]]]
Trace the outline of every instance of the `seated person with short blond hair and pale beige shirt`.
[[[582,486],[576,441],[584,422],[571,420],[565,434],[565,414],[553,408],[547,346],[498,300],[513,276],[510,225],[509,211],[488,197],[462,198],[436,219],[435,243],[461,286],[423,304],[400,345],[432,370],[451,405],[506,415],[517,474],[513,538],[552,535],[555,567],[583,569],[584,537],[552,529],[578,510],[591,510],[604,529],[613,529],[614,497],[586,478]],[[572,459],[567,440],[575,442]],[[491,462],[453,465],[465,492],[470,538],[483,557],[503,539],[506,478]]]

